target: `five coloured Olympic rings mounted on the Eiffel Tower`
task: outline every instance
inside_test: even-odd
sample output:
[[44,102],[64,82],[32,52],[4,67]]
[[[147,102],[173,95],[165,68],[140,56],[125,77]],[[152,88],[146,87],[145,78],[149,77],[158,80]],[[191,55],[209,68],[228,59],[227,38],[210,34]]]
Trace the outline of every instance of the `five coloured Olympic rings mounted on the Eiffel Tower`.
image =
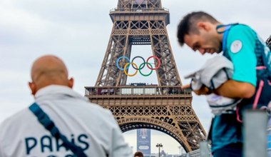
[[[121,67],[119,66],[118,62],[119,62],[121,59],[123,59],[123,58],[126,59],[126,60],[128,61],[128,63],[126,63],[126,64],[124,65],[123,68],[121,68]],[[143,60],[143,63],[140,64],[139,67],[138,67],[138,65],[136,65],[136,64],[133,62],[133,61],[134,61],[135,59],[137,59],[137,58],[140,58],[140,59]],[[155,68],[153,68],[153,66],[152,66],[150,63],[148,63],[148,61],[149,61],[151,58],[156,59],[156,60],[158,61],[158,66],[156,66]],[[143,74],[142,71],[141,71],[141,70],[145,67],[145,64],[147,64],[148,69],[151,70],[149,74]],[[148,57],[147,61],[145,61],[145,59],[143,59],[142,56],[135,56],[135,57],[132,59],[132,62],[130,61],[130,59],[129,59],[127,56],[120,56],[120,57],[116,60],[116,66],[117,66],[118,69],[120,69],[121,71],[124,71],[124,74],[126,74],[126,76],[135,76],[136,74],[138,74],[138,71],[139,71],[139,73],[140,73],[142,76],[150,76],[150,74],[153,73],[153,70],[157,70],[157,69],[160,67],[160,64],[161,64],[160,59],[158,59],[157,56],[150,56],[150,57]],[[133,69],[136,70],[136,72],[135,72],[134,74],[128,74],[128,69],[129,69],[130,65],[132,65]]]

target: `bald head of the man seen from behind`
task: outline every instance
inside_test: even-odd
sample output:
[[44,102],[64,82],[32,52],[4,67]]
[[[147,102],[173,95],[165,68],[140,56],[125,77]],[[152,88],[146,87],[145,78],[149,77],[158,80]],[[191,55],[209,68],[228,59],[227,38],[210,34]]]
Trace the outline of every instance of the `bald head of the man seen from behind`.
[[41,56],[34,61],[31,68],[31,79],[29,83],[33,94],[39,91],[40,88],[49,86],[52,84],[61,86],[73,86],[73,78],[68,79],[68,70],[56,56]]

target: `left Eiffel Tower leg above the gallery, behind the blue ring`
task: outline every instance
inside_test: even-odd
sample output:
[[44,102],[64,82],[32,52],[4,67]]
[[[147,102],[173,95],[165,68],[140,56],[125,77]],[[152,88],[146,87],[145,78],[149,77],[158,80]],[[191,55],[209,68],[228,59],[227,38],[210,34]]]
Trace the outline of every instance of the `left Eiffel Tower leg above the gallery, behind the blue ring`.
[[[120,56],[131,56],[131,43],[128,37],[128,22],[115,22],[111,32],[111,37],[106,49],[100,73],[95,86],[119,86],[126,84],[127,76],[116,66],[116,60]],[[121,60],[123,67],[128,61]]]

